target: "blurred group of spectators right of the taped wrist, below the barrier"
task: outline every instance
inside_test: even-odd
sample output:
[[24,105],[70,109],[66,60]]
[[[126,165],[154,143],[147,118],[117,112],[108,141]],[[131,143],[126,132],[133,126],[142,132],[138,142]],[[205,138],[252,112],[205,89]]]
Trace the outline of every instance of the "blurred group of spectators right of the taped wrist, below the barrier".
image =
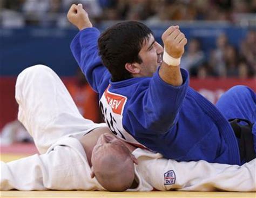
[[256,77],[256,31],[251,30],[241,40],[238,49],[230,44],[223,33],[216,39],[215,49],[205,53],[199,39],[188,40],[187,49],[181,58],[181,66],[191,76],[235,77],[240,79]]

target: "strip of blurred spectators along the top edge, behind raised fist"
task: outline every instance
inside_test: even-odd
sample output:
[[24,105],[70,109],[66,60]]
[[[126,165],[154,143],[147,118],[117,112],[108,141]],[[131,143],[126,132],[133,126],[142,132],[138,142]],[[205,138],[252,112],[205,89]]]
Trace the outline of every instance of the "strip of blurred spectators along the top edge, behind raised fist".
[[[82,3],[90,17],[105,20],[234,21],[239,13],[255,13],[255,0],[2,0],[4,11],[22,13],[25,24],[59,23],[73,3]],[[61,23],[61,22],[60,22]]]

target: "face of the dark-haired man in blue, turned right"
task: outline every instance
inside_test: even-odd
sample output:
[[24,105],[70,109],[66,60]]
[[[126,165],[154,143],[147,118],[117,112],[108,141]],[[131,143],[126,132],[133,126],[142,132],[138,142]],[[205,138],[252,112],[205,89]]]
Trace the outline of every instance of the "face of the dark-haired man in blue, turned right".
[[152,77],[157,71],[157,67],[162,63],[163,47],[154,40],[150,35],[149,40],[144,42],[142,49],[139,51],[139,57],[142,63],[139,64],[141,77]]

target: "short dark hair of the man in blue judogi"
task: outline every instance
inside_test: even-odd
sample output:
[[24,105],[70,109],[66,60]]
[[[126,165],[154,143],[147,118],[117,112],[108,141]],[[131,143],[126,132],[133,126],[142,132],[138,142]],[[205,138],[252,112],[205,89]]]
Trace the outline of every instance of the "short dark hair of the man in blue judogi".
[[126,63],[142,63],[139,51],[153,32],[143,23],[127,21],[107,29],[98,39],[99,56],[112,75],[112,81],[132,78]]

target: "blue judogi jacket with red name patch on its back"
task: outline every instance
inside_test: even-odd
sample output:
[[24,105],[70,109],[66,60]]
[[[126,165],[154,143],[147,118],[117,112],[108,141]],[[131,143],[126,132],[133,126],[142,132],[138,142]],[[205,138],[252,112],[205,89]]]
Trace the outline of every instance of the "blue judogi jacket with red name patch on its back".
[[[72,40],[71,51],[87,81],[99,93],[102,113],[114,134],[125,139],[123,134],[129,133],[140,144],[167,159],[240,165],[237,138],[221,113],[230,101],[223,101],[223,107],[218,110],[188,86],[188,72],[183,69],[184,83],[179,87],[165,83],[158,71],[153,77],[112,82],[98,56],[99,34],[96,28],[80,31]],[[109,100],[105,105],[102,101],[106,94],[125,100],[120,115],[111,112],[111,108],[117,107],[121,100]],[[255,104],[250,111],[255,118]]]

